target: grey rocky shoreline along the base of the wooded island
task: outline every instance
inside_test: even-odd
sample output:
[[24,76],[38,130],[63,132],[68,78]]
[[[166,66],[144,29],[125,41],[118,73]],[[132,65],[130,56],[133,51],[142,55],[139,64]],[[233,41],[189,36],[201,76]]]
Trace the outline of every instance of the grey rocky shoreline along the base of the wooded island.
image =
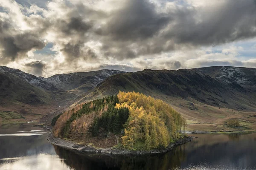
[[192,141],[192,137],[185,137],[183,139],[180,139],[179,141],[169,144],[168,147],[162,148],[162,149],[155,149],[155,150],[149,150],[149,151],[143,151],[143,150],[120,150],[120,149],[114,149],[114,148],[96,148],[93,145],[82,145],[82,144],[76,144],[72,141],[67,141],[60,138],[55,138],[52,133],[49,133],[47,136],[47,140],[55,144],[59,147],[63,147],[67,150],[72,150],[74,152],[78,153],[98,153],[98,154],[105,154],[105,155],[142,155],[142,154],[157,154],[157,153],[166,153],[173,149],[173,147],[185,144],[187,142]]

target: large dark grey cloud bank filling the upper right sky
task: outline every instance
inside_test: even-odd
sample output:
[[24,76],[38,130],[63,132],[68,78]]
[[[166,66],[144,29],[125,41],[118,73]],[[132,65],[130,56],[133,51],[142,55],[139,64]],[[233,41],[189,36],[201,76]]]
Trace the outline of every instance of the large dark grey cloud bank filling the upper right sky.
[[120,60],[256,36],[255,0],[216,1],[206,8],[184,5],[166,11],[157,11],[148,0],[124,2],[96,30],[109,47],[102,51]]

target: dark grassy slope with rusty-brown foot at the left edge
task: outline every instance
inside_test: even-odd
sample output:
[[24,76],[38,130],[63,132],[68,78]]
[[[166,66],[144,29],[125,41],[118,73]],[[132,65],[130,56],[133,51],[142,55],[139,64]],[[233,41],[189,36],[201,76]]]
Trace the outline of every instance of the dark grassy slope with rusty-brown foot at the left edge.
[[[0,110],[21,114],[27,119],[35,119],[51,110],[54,101],[50,94],[42,91],[23,79],[10,74],[0,73]],[[0,121],[16,119],[1,116]]]

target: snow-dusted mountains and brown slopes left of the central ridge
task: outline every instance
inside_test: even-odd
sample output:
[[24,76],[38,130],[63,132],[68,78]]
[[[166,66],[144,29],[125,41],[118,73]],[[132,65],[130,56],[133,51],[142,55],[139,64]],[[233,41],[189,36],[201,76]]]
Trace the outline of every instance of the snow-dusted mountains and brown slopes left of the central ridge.
[[58,110],[63,111],[87,90],[96,87],[107,77],[120,73],[125,72],[99,70],[44,78],[0,66],[0,121],[10,117],[6,116],[7,113],[37,119]]

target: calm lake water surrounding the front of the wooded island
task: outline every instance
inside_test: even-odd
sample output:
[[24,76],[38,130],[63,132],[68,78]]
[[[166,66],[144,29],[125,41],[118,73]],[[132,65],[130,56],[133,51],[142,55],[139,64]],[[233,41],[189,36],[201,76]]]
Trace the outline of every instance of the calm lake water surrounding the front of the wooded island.
[[256,133],[196,134],[169,153],[79,155],[47,142],[32,124],[0,125],[0,170],[256,170]]

